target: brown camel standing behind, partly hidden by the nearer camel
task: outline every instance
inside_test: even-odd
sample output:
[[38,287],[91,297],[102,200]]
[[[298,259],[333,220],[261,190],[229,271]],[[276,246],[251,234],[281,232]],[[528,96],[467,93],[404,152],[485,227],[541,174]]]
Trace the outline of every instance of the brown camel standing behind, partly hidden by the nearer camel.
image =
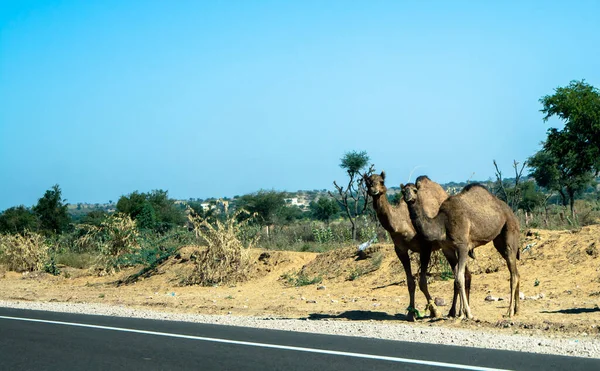
[[[421,274],[419,276],[419,288],[425,295],[427,299],[427,309],[431,312],[433,317],[439,317],[439,312],[437,310],[436,305],[429,294],[429,290],[427,288],[427,266],[429,265],[429,261],[431,259],[431,252],[435,250],[439,250],[441,248],[440,243],[429,242],[426,241],[423,236],[420,236],[415,230],[410,215],[408,212],[408,207],[404,199],[400,200],[400,203],[397,206],[392,206],[388,202],[388,198],[386,196],[387,188],[385,186],[385,172],[381,172],[381,175],[373,174],[371,176],[363,176],[365,184],[367,186],[367,191],[369,195],[373,197],[373,208],[377,213],[377,218],[379,222],[388,231],[392,241],[394,242],[394,250],[396,251],[396,255],[400,259],[402,266],[404,267],[404,271],[406,273],[406,283],[408,286],[408,294],[410,297],[409,304],[409,313],[408,320],[414,321],[415,318],[415,279],[411,272],[410,267],[410,257],[408,255],[408,251],[414,251],[419,253],[420,261],[421,261]],[[448,194],[444,189],[437,183],[428,181],[421,182],[422,198],[424,200],[424,208],[425,212],[431,217],[437,215],[438,209],[441,203],[448,198]],[[444,255],[446,259],[450,263],[452,269],[458,263],[458,259],[456,254],[451,250],[444,250]],[[467,295],[471,286],[471,273],[465,270],[466,275],[466,291]],[[452,309],[450,310],[449,316],[456,315],[456,305],[455,303],[458,301],[458,290],[454,290],[453,304]]]

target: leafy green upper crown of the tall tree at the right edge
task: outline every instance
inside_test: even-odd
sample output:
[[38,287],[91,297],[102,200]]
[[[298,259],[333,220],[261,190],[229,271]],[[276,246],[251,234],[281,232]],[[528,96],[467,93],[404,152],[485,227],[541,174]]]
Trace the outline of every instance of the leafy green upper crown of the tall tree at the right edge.
[[[546,149],[559,145],[574,150],[572,165],[582,174],[600,170],[600,91],[584,80],[571,81],[567,87],[556,88],[553,95],[540,99],[544,122],[558,117],[565,123],[562,130],[548,130]],[[563,148],[562,151],[565,151]],[[555,155],[558,152],[553,150]],[[561,158],[561,157],[558,157]]]

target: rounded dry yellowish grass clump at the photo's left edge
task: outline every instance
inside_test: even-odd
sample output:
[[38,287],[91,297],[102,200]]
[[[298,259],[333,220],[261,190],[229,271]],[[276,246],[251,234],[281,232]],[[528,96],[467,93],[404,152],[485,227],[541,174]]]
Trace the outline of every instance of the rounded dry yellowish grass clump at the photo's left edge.
[[39,271],[47,260],[48,245],[42,235],[27,231],[23,235],[0,235],[0,261],[9,270]]

